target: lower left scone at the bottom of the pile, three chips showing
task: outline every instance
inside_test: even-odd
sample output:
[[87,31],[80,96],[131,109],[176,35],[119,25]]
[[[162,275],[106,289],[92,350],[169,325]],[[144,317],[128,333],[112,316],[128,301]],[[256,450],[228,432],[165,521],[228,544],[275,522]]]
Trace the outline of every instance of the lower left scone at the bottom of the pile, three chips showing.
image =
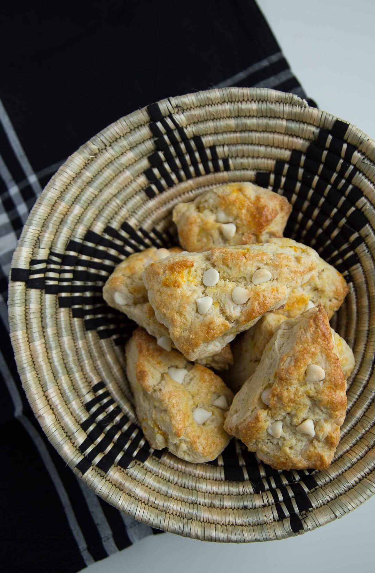
[[187,362],[177,350],[163,350],[137,328],[126,345],[126,371],[151,448],[168,448],[199,464],[214,460],[228,445],[223,426],[233,393],[208,368]]

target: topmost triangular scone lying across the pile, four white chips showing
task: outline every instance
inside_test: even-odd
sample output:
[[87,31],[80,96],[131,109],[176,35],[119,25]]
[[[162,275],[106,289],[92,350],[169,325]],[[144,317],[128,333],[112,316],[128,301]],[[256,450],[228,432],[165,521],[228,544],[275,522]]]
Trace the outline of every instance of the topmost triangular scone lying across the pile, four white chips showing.
[[143,280],[175,346],[197,360],[216,354],[265,312],[283,305],[316,265],[304,245],[265,243],[181,253],[148,266]]

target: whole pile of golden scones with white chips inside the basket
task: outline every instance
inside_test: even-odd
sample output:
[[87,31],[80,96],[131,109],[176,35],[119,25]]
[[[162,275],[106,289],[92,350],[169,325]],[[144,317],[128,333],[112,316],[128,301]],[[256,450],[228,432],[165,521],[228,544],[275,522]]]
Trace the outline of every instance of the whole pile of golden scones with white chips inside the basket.
[[184,251],[146,249],[108,278],[104,299],[142,327],[127,376],[152,448],[205,462],[235,435],[277,469],[331,463],[354,357],[329,320],[349,289],[283,238],[290,212],[252,183],[215,187],[174,208]]

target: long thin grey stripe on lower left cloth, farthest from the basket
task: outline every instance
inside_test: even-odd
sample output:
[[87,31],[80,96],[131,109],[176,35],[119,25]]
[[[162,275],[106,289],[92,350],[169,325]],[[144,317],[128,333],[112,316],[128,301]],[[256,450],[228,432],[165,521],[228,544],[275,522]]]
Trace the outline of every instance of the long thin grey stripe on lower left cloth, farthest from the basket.
[[67,516],[67,520],[69,526],[72,530],[73,536],[77,542],[77,547],[79,548],[80,554],[85,562],[86,565],[90,565],[94,563],[94,559],[90,552],[87,549],[87,544],[80,528],[80,525],[77,521],[75,516],[75,512],[73,511],[72,504],[69,500],[68,494],[62,484],[61,478],[58,475],[57,469],[53,464],[52,458],[50,457],[48,450],[38,434],[37,430],[34,428],[32,423],[22,414],[22,401],[21,396],[19,395],[18,388],[15,386],[13,381],[13,377],[10,374],[9,368],[3,358],[2,352],[0,351],[0,368],[3,374],[3,378],[5,379],[6,387],[8,388],[9,394],[11,399],[13,400],[14,404],[14,416],[22,423],[25,430],[28,432],[30,439],[34,442],[42,461],[44,462],[45,468],[49,473],[49,476],[52,480],[54,488],[56,489],[56,493],[60,498],[62,508],[64,509],[65,515]]

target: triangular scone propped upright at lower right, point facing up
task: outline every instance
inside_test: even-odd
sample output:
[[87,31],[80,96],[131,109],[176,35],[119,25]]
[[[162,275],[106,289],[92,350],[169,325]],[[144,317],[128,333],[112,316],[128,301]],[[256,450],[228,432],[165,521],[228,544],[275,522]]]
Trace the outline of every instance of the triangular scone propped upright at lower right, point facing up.
[[224,427],[273,468],[327,468],[345,419],[345,391],[328,316],[318,305],[279,326]]

